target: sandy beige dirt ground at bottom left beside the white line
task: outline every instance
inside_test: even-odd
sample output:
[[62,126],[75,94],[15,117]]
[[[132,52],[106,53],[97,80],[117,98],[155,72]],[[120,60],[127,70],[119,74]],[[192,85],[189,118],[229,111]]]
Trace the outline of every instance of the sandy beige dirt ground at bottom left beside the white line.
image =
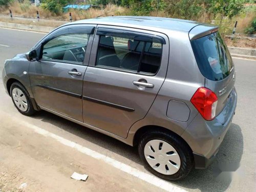
[[[150,191],[155,186],[39,135],[0,112],[0,191]],[[14,123],[15,122],[15,123]],[[40,142],[38,142],[40,141]],[[89,175],[71,179],[73,172]],[[22,185],[26,187],[22,188]]]

